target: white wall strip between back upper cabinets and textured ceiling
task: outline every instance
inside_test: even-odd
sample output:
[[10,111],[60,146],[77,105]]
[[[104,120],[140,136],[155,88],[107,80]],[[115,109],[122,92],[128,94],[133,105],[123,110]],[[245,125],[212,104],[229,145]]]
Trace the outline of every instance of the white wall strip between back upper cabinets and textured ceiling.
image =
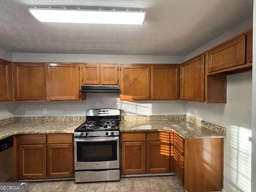
[[180,64],[184,56],[13,53],[13,62],[106,62]]

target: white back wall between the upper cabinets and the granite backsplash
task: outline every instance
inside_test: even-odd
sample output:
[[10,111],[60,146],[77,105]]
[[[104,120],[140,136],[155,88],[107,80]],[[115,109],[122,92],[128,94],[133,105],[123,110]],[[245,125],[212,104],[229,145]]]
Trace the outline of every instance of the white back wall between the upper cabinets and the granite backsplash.
[[[119,108],[122,115],[185,114],[183,101],[120,102],[118,93],[87,93],[84,101],[14,102],[14,116],[86,116],[86,110]],[[1,104],[0,104],[1,106]],[[47,108],[47,114],[42,109]],[[0,115],[1,111],[0,111]]]

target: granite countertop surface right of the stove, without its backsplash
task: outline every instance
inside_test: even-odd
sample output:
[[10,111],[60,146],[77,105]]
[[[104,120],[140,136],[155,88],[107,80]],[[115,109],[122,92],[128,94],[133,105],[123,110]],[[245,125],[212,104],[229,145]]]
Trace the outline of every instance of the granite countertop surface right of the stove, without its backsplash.
[[187,120],[137,120],[120,124],[120,132],[134,131],[174,131],[184,139],[226,137],[226,132],[210,130]]

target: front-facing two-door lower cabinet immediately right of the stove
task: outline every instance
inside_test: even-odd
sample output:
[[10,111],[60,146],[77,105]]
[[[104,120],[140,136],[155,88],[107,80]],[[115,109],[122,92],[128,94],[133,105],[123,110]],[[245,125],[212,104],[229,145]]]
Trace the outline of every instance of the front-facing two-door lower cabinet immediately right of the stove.
[[121,138],[122,174],[172,172],[170,132],[130,132]]

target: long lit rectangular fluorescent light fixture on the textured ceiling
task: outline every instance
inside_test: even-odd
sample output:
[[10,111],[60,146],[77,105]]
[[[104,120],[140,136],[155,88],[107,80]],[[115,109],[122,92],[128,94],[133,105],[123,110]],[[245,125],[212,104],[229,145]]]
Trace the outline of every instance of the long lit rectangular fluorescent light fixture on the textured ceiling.
[[41,22],[95,23],[95,24],[143,24],[145,11],[81,10],[29,8]]

